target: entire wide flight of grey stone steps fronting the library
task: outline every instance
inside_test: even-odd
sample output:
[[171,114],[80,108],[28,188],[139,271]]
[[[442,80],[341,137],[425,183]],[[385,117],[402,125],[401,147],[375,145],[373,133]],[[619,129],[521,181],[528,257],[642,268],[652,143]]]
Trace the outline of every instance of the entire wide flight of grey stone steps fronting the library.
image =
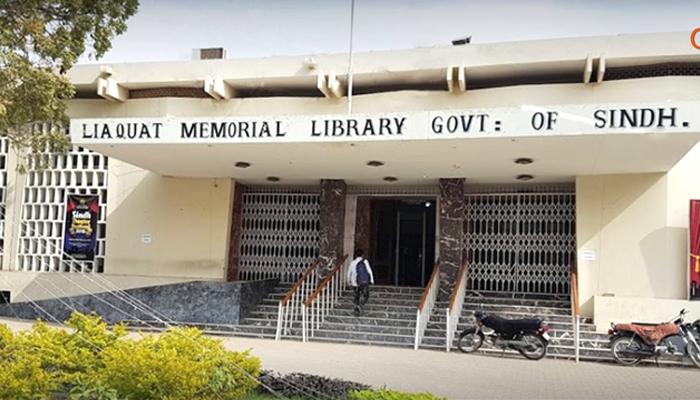
[[[278,304],[290,288],[291,285],[278,286],[242,324],[234,328],[234,334],[274,339]],[[310,340],[410,348],[415,340],[416,310],[422,294],[422,288],[372,286],[369,301],[362,315],[355,317],[352,304],[353,292],[346,290],[340,302],[326,316],[326,321],[321,324],[320,329]],[[436,304],[421,348],[445,351],[447,306],[447,302]],[[574,358],[574,327],[568,297],[467,292],[462,316],[457,326],[458,332],[473,325],[473,312],[478,308],[505,318],[545,319],[551,328],[548,357]],[[585,320],[581,321],[579,330],[581,360],[611,359],[610,350],[605,347],[608,342],[607,335],[596,333],[595,326]],[[292,326],[291,335],[283,338],[301,340],[301,322],[296,322]],[[459,351],[456,350],[456,346],[455,340],[453,351]],[[488,347],[484,347],[483,351],[501,353],[501,350]]]

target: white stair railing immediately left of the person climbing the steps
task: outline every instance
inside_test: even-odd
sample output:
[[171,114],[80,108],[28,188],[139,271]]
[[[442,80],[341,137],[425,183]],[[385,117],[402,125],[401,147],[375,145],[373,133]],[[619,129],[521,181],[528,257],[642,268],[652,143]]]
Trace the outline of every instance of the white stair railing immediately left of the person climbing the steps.
[[345,288],[346,279],[342,272],[347,270],[344,268],[347,259],[346,254],[302,305],[301,338],[304,342],[314,335],[315,330],[325,321],[328,312],[338,302]]

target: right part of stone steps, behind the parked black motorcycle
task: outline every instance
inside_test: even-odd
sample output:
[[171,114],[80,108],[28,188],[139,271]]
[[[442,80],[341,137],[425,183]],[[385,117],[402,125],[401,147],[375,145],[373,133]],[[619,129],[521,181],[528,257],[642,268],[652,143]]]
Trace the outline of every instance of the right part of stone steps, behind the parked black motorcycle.
[[[445,329],[447,302],[438,302],[426,329],[422,348],[445,350]],[[568,296],[556,295],[523,295],[511,293],[485,293],[468,291],[465,294],[462,315],[457,325],[453,351],[459,351],[457,339],[459,332],[473,326],[473,313],[481,309],[504,318],[543,318],[549,325],[550,346],[547,355],[551,358],[573,359],[574,326],[571,317],[571,302]],[[581,360],[609,360],[610,350],[606,348],[607,335],[596,333],[595,326],[582,319],[579,324],[579,358]],[[502,350],[484,346],[483,352],[498,352]],[[506,351],[506,353],[513,353]]]

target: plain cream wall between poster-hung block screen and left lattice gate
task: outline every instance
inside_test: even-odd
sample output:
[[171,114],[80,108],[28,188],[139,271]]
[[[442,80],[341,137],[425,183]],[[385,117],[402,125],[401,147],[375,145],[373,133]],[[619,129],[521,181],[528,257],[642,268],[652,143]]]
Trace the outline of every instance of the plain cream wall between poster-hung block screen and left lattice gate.
[[105,272],[223,279],[232,180],[170,178],[110,163]]

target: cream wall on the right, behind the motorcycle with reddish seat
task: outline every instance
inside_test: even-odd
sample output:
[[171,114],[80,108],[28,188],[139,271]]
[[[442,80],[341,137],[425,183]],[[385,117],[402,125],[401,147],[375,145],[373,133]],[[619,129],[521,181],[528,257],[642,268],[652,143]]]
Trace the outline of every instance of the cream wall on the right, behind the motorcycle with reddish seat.
[[[700,303],[688,298],[689,201],[700,198],[696,146],[667,174],[579,176],[581,313],[610,322],[660,321]],[[582,251],[596,252],[584,261]],[[668,301],[666,301],[668,300]]]

